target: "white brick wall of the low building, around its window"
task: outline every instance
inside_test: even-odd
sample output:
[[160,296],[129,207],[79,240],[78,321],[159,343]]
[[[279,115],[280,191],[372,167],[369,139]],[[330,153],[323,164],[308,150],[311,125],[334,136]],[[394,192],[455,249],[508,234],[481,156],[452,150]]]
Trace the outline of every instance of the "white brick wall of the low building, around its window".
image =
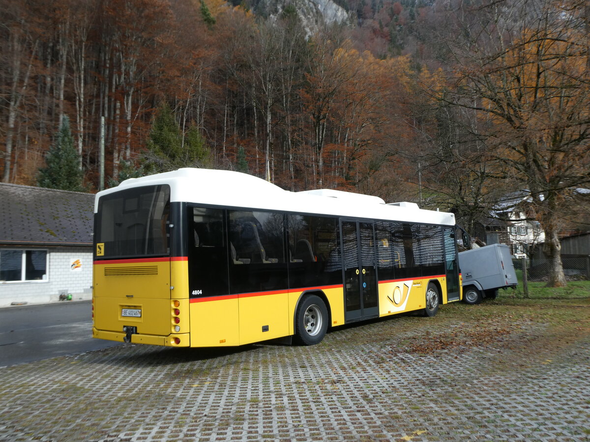
[[[84,251],[81,251],[84,250]],[[71,293],[73,299],[90,299],[92,291],[92,259],[89,248],[47,249],[47,279],[43,281],[0,283],[0,307],[12,302],[37,304],[57,301],[60,291]],[[73,271],[72,263],[79,259],[81,268]]]

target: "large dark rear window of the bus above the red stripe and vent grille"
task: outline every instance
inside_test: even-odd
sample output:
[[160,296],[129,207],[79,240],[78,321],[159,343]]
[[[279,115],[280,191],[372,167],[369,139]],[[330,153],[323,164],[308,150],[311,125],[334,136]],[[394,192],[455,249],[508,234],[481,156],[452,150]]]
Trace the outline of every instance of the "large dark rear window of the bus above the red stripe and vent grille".
[[99,200],[98,258],[169,255],[170,186],[146,186],[107,194]]

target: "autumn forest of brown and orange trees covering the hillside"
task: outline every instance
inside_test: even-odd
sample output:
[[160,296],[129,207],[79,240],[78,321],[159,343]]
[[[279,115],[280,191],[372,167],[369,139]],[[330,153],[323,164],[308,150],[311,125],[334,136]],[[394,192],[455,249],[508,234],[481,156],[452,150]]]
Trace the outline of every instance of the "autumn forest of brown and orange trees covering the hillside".
[[0,4],[5,183],[38,185],[65,120],[89,191],[101,164],[211,167],[470,226],[526,190],[551,239],[590,186],[585,0],[340,0],[313,26],[297,1]]

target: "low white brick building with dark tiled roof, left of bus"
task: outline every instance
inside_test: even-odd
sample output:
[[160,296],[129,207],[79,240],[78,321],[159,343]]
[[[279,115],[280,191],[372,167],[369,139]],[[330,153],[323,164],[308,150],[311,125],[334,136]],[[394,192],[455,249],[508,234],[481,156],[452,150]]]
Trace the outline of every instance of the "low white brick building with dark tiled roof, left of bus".
[[91,297],[94,195],[0,183],[0,307]]

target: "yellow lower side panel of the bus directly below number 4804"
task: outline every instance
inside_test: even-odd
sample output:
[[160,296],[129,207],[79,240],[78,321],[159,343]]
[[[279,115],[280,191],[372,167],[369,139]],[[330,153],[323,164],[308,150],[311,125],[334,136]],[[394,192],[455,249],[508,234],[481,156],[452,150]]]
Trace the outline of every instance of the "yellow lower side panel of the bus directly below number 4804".
[[191,346],[240,345],[237,297],[191,301]]

